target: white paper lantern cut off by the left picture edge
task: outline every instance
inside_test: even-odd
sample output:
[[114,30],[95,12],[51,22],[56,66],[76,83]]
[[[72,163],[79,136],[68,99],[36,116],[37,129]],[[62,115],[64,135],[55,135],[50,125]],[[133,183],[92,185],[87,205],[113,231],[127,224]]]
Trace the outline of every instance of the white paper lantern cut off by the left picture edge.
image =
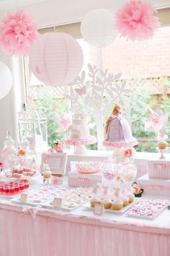
[[12,88],[12,72],[3,62],[0,62],[0,99],[4,98]]

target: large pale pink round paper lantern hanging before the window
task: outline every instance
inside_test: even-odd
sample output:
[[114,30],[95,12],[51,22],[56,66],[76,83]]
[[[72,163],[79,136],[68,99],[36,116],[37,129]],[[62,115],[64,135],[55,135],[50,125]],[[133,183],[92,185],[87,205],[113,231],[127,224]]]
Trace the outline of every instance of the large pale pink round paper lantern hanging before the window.
[[83,53],[76,40],[66,33],[40,35],[30,51],[30,68],[46,85],[68,85],[83,65]]

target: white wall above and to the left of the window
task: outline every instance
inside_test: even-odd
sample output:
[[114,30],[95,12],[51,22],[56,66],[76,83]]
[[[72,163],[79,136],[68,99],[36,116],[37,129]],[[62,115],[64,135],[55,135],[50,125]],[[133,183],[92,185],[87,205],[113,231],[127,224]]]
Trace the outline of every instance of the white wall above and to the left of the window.
[[[114,12],[125,2],[127,2],[127,0],[51,0],[22,7],[22,9],[37,20],[39,27],[43,27],[81,20],[81,18],[84,17],[84,14],[91,9],[105,8]],[[169,0],[151,0],[151,2],[157,7],[170,5]],[[12,11],[16,11],[19,9],[18,7],[19,4],[17,4],[16,7],[13,6]],[[6,12],[1,12],[0,9],[0,19],[4,17],[5,14]],[[1,50],[0,61],[4,61],[4,63],[12,69],[12,59],[9,56],[6,56]],[[21,106],[19,103],[20,105],[16,108],[13,102],[14,94],[16,95],[18,91],[17,85],[17,82],[15,82],[14,88],[9,95],[0,100],[0,150],[2,141],[6,135],[6,129],[9,129],[12,132],[12,137],[16,138],[16,125],[14,124],[14,120],[16,120],[19,106]],[[24,86],[23,83],[22,86]]]

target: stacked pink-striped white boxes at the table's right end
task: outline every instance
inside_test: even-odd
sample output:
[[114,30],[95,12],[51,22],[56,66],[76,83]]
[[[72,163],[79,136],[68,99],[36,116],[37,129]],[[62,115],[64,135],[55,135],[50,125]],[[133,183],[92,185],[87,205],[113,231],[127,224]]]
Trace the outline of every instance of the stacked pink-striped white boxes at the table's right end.
[[146,195],[170,197],[170,161],[148,161],[148,174],[138,179]]

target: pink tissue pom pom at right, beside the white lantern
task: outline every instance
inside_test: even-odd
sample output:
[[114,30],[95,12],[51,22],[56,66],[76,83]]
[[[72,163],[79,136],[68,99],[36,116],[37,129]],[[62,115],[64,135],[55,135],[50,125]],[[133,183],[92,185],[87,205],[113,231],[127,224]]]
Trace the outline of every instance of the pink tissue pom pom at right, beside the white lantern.
[[116,27],[131,40],[151,38],[160,23],[154,16],[156,8],[145,1],[130,1],[115,14]]

